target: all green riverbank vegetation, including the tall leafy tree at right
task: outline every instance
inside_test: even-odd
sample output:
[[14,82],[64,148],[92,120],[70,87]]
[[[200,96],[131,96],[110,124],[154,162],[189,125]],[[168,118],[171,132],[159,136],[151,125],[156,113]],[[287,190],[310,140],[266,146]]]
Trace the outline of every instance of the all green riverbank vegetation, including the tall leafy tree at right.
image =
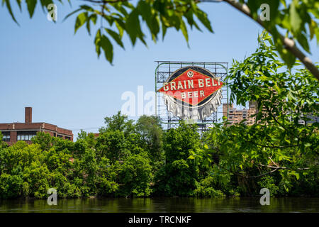
[[[99,136],[76,142],[38,133],[8,147],[0,134],[0,198],[136,196],[319,196],[318,81],[298,65],[286,70],[267,33],[233,62],[230,101],[256,101],[256,123],[227,119],[200,135],[181,121],[164,131],[155,116],[106,117]],[[303,123],[301,123],[301,120]]]

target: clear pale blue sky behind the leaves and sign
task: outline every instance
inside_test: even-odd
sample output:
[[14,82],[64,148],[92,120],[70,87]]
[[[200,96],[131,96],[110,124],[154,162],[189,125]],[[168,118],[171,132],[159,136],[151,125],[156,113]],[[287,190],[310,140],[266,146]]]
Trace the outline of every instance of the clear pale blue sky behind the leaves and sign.
[[[78,1],[80,2],[80,1]],[[0,123],[24,121],[24,107],[33,107],[33,122],[53,123],[73,130],[97,132],[103,118],[116,114],[125,101],[125,91],[153,91],[155,60],[231,62],[242,60],[257,48],[262,28],[250,18],[224,3],[205,3],[215,33],[189,31],[190,48],[181,32],[170,30],[164,41],[148,48],[132,47],[127,37],[125,50],[114,45],[113,66],[103,56],[97,58],[93,36],[86,28],[74,35],[75,16],[62,22],[76,9],[57,5],[57,23],[47,21],[38,6],[32,19],[26,7],[15,8],[17,26],[6,8],[0,7]],[[147,31],[146,31],[147,32]],[[319,62],[318,46],[310,43]]]

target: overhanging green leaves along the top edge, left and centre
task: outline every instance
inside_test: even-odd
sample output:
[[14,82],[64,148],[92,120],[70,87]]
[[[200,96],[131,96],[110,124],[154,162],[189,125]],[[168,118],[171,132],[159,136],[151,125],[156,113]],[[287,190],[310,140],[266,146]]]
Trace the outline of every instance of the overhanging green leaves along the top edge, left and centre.
[[[33,16],[37,2],[37,0],[26,0],[30,17]],[[200,22],[208,31],[213,32],[207,14],[198,7],[198,1],[143,0],[138,1],[135,5],[129,1],[108,1],[105,3],[101,1],[96,4],[88,2],[89,4],[83,4],[69,13],[65,19],[78,13],[74,23],[74,33],[77,33],[79,28],[86,25],[89,35],[91,35],[91,24],[96,25],[96,21],[101,20],[101,26],[96,29],[94,45],[97,55],[100,56],[101,50],[103,50],[106,60],[110,63],[113,62],[113,43],[124,48],[122,41],[124,33],[128,35],[132,45],[135,45],[138,40],[147,45],[145,31],[142,31],[142,23],[146,24],[154,42],[157,42],[161,31],[162,38],[164,38],[168,28],[181,31],[188,42],[189,36],[186,24],[201,31],[197,24]],[[4,3],[6,3],[6,8],[9,10],[13,21],[16,21],[11,9],[11,1],[6,0]],[[17,3],[21,9],[21,1],[17,1]],[[57,3],[57,1],[40,1],[45,11],[47,11],[47,6],[52,3]],[[18,22],[16,21],[16,23]]]

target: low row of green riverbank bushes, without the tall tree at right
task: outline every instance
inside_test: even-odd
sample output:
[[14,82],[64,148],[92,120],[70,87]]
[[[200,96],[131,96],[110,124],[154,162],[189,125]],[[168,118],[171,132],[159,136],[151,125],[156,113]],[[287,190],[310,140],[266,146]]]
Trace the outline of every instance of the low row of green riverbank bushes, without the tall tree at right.
[[[38,133],[31,145],[18,141],[7,147],[2,143],[1,198],[45,199],[49,188],[57,189],[60,198],[224,198],[257,195],[262,187],[272,196],[318,196],[315,168],[300,170],[298,177],[290,169],[251,177],[272,168],[247,162],[249,157],[242,157],[237,150],[215,150],[216,133],[227,131],[216,129],[201,138],[194,125],[181,122],[179,128],[162,131],[155,117],[142,116],[133,124],[120,113],[106,122],[97,138],[82,131],[72,142]],[[250,126],[242,127],[247,130]],[[231,140],[229,143],[237,149]],[[248,166],[239,167],[243,165],[240,162]]]

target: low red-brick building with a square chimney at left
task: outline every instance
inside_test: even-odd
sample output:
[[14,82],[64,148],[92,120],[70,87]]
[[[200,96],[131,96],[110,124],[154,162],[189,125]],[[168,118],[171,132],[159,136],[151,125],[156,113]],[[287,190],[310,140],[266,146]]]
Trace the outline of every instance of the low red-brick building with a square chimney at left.
[[16,143],[18,140],[24,140],[30,144],[31,138],[38,132],[50,133],[51,136],[73,141],[71,130],[59,128],[45,122],[33,123],[32,107],[26,107],[25,111],[25,123],[0,123],[0,131],[3,135],[2,140],[9,145]]

